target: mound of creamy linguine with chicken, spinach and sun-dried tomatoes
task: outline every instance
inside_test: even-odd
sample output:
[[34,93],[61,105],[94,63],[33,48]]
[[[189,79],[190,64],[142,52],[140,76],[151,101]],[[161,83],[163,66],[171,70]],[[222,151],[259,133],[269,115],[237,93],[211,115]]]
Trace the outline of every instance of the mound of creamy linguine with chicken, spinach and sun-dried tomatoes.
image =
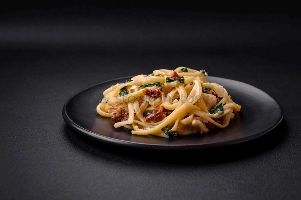
[[141,74],[107,88],[96,110],[136,135],[168,138],[227,127],[241,106],[205,76],[205,70],[185,67]]

